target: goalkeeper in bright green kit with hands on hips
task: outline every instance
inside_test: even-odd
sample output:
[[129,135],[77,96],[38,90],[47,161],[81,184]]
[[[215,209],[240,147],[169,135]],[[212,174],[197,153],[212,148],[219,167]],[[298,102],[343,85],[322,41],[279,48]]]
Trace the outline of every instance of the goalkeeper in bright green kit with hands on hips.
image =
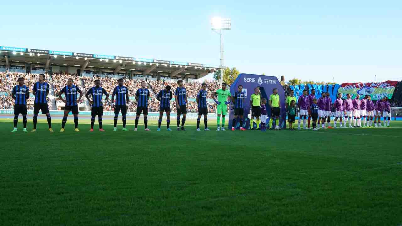
[[[217,104],[216,107],[216,122],[218,128],[216,131],[223,130],[225,131],[225,116],[228,113],[228,104],[230,103],[230,98],[232,95],[230,95],[230,91],[226,90],[226,83],[222,83],[222,89],[218,89],[213,93],[213,100]],[[216,96],[218,97],[218,100],[216,100]],[[221,115],[222,115],[222,128],[219,127],[220,121],[221,121]]]

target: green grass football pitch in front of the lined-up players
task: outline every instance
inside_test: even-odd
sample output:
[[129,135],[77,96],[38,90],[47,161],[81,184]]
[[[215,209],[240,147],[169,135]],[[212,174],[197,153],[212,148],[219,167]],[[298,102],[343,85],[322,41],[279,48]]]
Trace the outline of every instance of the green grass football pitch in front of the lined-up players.
[[39,120],[24,133],[20,117],[11,133],[0,119],[0,224],[402,224],[402,122],[267,132],[130,122],[113,132],[105,120],[102,133],[96,119],[90,133],[85,119],[59,133],[53,120],[50,133]]

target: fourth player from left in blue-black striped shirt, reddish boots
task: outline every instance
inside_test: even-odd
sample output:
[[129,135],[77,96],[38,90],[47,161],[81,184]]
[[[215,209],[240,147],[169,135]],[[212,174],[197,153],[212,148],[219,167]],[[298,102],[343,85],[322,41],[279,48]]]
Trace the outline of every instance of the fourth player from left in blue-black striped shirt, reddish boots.
[[[102,96],[105,94],[105,101],[109,100],[109,94],[106,90],[100,87],[100,80],[95,80],[95,86],[88,89],[85,94],[86,99],[91,104],[91,129],[90,132],[94,131],[95,117],[98,115],[98,123],[99,123],[99,131],[104,132],[102,129],[102,115],[103,115],[103,104],[102,104]],[[92,95],[92,101],[89,99],[89,95]]]

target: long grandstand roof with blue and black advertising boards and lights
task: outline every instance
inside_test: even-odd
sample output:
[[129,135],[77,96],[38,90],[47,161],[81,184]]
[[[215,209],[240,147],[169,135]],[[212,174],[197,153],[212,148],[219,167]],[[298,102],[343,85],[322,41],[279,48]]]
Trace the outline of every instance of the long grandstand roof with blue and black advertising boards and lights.
[[10,64],[33,64],[46,69],[51,66],[67,66],[84,70],[109,70],[114,74],[118,72],[134,71],[136,74],[167,74],[173,76],[189,75],[189,77],[202,78],[208,73],[218,70],[218,67],[206,66],[200,63],[176,62],[171,60],[158,60],[136,58],[127,56],[102,55],[94,53],[78,53],[45,49],[30,49],[20,47],[0,46],[2,62]]

